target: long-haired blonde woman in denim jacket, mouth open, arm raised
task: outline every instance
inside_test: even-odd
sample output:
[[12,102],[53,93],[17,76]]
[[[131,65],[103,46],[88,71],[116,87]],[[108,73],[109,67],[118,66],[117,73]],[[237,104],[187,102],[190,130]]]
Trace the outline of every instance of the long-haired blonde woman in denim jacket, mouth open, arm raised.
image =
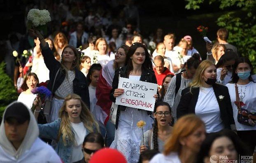
[[[42,102],[36,97],[33,103],[36,106],[34,116],[37,120]],[[57,142],[54,149],[64,163],[80,161],[84,157],[81,150],[84,138],[91,132],[99,132],[98,123],[81,97],[76,94],[65,97],[59,116],[54,122],[37,124],[39,135]]]

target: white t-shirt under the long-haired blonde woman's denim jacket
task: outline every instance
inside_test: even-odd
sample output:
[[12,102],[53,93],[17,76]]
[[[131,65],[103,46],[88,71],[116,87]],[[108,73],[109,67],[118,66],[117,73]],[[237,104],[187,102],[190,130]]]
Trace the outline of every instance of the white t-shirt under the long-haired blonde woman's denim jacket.
[[76,145],[73,146],[72,148],[72,157],[71,157],[71,162],[76,162],[81,160],[84,157],[84,154],[81,150],[81,146],[84,142],[84,138],[87,135],[86,128],[84,127],[83,122],[80,123],[72,123],[70,122],[74,131],[74,138],[77,142]]

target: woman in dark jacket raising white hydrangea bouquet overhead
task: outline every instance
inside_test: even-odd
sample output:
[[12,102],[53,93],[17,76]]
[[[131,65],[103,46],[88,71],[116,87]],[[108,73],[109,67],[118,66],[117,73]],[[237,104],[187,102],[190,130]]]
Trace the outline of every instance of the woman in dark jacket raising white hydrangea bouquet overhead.
[[58,119],[59,109],[67,95],[75,93],[90,107],[90,98],[86,77],[79,70],[79,56],[76,48],[67,45],[63,48],[61,54],[61,62],[54,58],[54,54],[49,48],[48,43],[44,41],[43,35],[37,31],[30,29],[33,36],[37,36],[40,40],[44,63],[49,69],[49,83],[47,87],[54,96],[51,104],[51,111],[48,122]]

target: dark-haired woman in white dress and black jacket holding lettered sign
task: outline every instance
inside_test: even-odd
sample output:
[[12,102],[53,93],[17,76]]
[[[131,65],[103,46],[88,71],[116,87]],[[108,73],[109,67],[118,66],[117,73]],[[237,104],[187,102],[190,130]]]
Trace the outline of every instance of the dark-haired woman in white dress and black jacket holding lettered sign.
[[[113,102],[116,101],[116,97],[124,93],[124,89],[118,88],[119,74],[123,78],[157,84],[150,54],[142,43],[133,43],[130,46],[125,66],[115,72],[110,94],[110,99]],[[158,95],[156,94],[154,97],[158,98]],[[140,141],[143,133],[136,124],[143,120],[146,122],[143,127],[144,131],[151,129],[153,120],[149,117],[150,114],[151,111],[119,105],[115,138],[110,147],[122,152],[128,163],[137,163],[139,160]]]

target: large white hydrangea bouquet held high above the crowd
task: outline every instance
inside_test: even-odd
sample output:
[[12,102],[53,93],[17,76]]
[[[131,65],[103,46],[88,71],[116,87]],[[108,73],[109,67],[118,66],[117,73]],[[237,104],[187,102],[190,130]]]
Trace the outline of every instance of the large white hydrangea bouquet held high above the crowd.
[[50,13],[48,10],[30,9],[28,11],[28,29],[35,28],[44,34],[47,33],[46,23],[51,21]]

